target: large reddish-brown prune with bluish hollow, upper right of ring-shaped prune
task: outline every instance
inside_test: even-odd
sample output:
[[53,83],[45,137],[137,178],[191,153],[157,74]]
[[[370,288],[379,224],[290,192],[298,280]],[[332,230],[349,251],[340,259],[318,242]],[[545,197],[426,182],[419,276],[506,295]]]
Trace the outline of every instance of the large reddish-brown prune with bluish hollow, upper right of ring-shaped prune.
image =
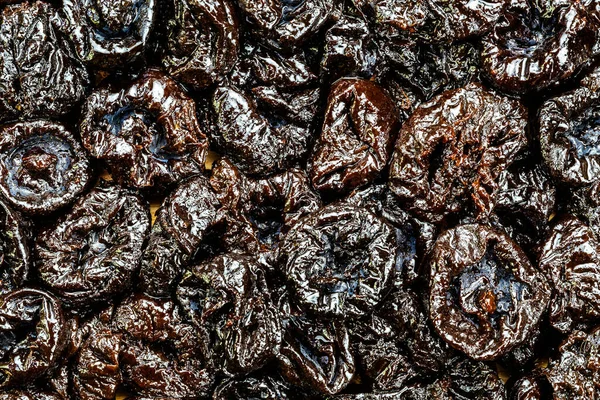
[[88,152],[127,186],[161,189],[204,171],[208,140],[196,105],[158,70],[148,70],[121,91],[94,92],[80,131]]

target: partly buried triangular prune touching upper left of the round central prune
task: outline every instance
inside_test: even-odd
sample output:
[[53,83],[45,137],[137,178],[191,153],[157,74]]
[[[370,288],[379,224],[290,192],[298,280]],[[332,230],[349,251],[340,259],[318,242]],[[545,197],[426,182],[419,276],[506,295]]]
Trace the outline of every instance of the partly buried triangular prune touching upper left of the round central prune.
[[250,226],[268,250],[302,217],[321,207],[304,171],[291,169],[263,179],[242,174],[229,160],[219,160],[210,183],[220,202]]

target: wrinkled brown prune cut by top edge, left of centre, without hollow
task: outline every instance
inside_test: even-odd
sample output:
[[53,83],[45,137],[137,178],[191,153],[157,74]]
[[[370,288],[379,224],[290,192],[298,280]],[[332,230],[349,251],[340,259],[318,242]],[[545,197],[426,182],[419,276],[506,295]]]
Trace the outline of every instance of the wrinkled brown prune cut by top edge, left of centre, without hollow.
[[169,75],[195,89],[231,71],[240,47],[238,21],[229,0],[173,1],[162,59]]

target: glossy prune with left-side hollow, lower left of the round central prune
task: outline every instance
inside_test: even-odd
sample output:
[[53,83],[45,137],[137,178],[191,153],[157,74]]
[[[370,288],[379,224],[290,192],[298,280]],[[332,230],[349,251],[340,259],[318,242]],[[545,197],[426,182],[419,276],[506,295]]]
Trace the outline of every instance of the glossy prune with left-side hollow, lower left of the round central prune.
[[188,318],[208,331],[213,362],[226,373],[254,371],[279,352],[277,309],[265,272],[250,256],[226,254],[195,266],[176,296]]

